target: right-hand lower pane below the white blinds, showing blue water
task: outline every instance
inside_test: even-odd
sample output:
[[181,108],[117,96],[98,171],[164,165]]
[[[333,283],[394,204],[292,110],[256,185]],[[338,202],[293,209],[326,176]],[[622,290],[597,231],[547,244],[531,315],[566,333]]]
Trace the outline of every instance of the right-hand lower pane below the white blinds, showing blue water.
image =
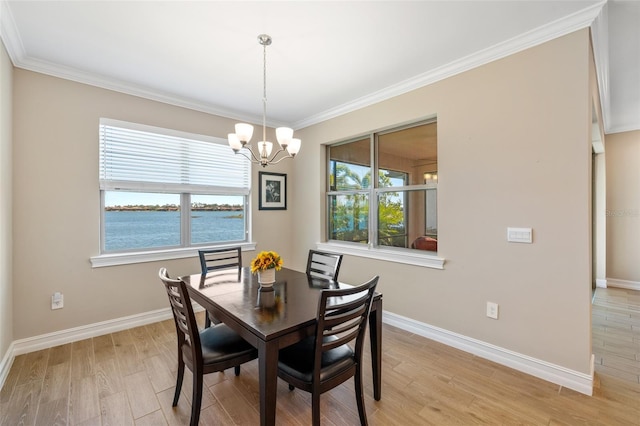
[[244,197],[191,196],[192,244],[242,241],[245,223]]

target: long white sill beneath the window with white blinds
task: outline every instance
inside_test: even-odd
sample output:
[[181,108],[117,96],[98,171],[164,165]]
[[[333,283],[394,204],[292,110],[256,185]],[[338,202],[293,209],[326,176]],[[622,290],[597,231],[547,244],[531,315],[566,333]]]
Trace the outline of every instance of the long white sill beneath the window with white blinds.
[[[251,251],[256,249],[256,243],[236,244],[240,245],[242,251]],[[225,246],[215,246],[215,248],[224,248]],[[166,250],[147,250],[127,253],[108,253],[93,256],[90,258],[92,268],[102,268],[105,266],[129,265],[132,263],[155,262],[159,260],[184,259],[187,257],[197,257],[199,249],[212,247],[181,247]]]

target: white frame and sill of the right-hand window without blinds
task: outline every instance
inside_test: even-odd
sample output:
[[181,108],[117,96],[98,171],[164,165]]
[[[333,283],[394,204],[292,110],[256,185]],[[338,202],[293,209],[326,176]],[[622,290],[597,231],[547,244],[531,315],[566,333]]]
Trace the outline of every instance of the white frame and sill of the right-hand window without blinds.
[[[366,134],[362,134],[353,138],[349,138],[346,140],[339,141],[337,143],[328,144],[327,148],[327,156],[326,156],[326,192],[325,192],[325,227],[326,232],[324,236],[324,241],[317,244],[317,248],[319,250],[331,252],[331,253],[342,253],[347,255],[366,257],[377,260],[385,260],[396,263],[403,263],[415,266],[423,266],[434,269],[444,269],[445,259],[443,257],[438,256],[438,253],[434,252],[426,252],[421,250],[414,250],[410,248],[404,247],[391,247],[391,246],[380,246],[378,242],[378,210],[379,210],[379,196],[385,192],[404,192],[405,196],[407,191],[415,191],[422,190],[426,191],[434,189],[433,183],[425,183],[419,185],[406,185],[400,187],[384,187],[381,188],[379,186],[379,167],[378,167],[378,136],[386,133],[396,132],[403,129],[407,129],[410,127],[430,124],[433,122],[437,122],[436,116],[427,117],[425,119],[421,119],[418,121],[405,123],[398,126],[388,127],[384,129],[379,129],[375,131],[368,132]],[[370,164],[371,164],[371,184],[369,188],[365,190],[358,190],[355,192],[363,192],[365,191],[369,196],[369,243],[362,244],[357,242],[350,241],[341,241],[341,240],[332,240],[331,237],[331,203],[329,202],[332,196],[344,195],[348,192],[354,191],[339,191],[331,189],[331,176],[332,176],[332,168],[331,168],[331,158],[328,154],[329,148],[332,146],[339,146],[343,144],[348,144],[352,142],[357,142],[363,140],[365,138],[369,138],[370,141]],[[373,178],[375,176],[375,179]]]

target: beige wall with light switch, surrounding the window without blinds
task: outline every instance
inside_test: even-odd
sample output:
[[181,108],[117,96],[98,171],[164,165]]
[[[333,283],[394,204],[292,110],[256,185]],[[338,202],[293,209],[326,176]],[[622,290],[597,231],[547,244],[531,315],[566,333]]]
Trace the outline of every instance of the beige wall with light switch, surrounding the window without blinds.
[[[581,30],[304,129],[297,263],[323,240],[322,144],[437,114],[445,269],[347,256],[341,279],[379,274],[387,311],[589,374],[589,49]],[[532,227],[534,243],[507,243],[510,226]]]

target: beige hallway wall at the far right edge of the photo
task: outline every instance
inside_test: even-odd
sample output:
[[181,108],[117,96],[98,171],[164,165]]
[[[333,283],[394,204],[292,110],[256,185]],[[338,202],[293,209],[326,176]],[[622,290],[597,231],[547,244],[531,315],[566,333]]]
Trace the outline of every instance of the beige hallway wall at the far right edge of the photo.
[[640,131],[606,136],[607,279],[640,285]]

